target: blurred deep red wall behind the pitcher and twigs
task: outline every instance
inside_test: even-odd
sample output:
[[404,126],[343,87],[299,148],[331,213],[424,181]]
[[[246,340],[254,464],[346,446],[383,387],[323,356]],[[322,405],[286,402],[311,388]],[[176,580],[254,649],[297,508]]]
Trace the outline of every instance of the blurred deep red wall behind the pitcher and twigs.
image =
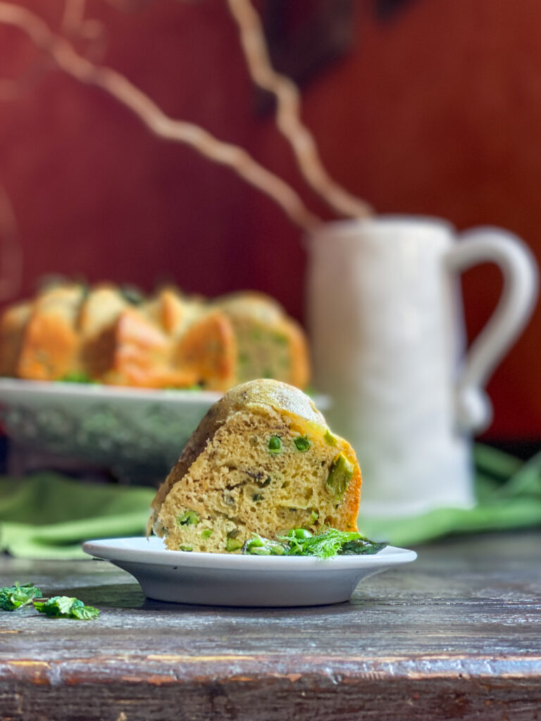
[[[61,1],[18,4],[58,27]],[[539,0],[413,0],[387,22],[369,0],[355,7],[352,52],[304,90],[327,168],[377,211],[444,216],[459,229],[501,225],[541,260]],[[223,0],[155,0],[138,12],[89,0],[88,14],[107,25],[108,65],[173,117],[244,146],[329,217],[272,119],[253,112]],[[0,27],[2,77],[35,58]],[[0,183],[25,253],[19,296],[47,273],[144,288],[172,278],[210,296],[260,288],[302,319],[301,234],[273,202],[52,68],[0,99]],[[470,337],[499,287],[492,267],[467,274]],[[537,311],[493,376],[493,437],[541,438],[540,336]]]

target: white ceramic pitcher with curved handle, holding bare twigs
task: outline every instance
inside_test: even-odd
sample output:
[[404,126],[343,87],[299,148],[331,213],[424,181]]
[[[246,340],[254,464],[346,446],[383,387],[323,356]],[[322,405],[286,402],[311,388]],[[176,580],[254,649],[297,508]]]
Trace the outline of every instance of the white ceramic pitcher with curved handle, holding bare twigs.
[[[491,421],[483,386],[537,294],[526,245],[491,227],[457,235],[438,219],[381,216],[325,224],[308,247],[315,384],[359,456],[361,513],[470,507],[471,436]],[[487,261],[503,293],[466,351],[459,273]]]

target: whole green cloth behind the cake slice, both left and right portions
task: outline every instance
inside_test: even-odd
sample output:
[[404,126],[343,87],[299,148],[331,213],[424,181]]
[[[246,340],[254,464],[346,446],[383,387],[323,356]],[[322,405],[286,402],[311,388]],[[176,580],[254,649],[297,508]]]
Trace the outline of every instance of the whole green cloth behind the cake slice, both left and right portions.
[[[475,466],[475,508],[364,519],[361,532],[410,546],[449,534],[541,526],[541,454],[523,463],[478,445]],[[153,497],[151,488],[91,484],[53,473],[0,478],[0,551],[21,558],[87,558],[82,541],[143,534]]]

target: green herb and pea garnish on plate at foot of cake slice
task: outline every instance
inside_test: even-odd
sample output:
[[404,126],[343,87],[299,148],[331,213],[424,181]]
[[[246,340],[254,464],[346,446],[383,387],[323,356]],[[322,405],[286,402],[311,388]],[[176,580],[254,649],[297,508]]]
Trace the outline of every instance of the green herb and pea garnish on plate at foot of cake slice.
[[287,536],[278,536],[284,541],[288,549],[288,556],[317,556],[319,558],[332,558],[339,555],[374,554],[381,551],[387,544],[374,543],[361,536],[356,531],[338,531],[336,528],[327,528],[317,536],[304,535],[299,531],[304,528],[292,528]]

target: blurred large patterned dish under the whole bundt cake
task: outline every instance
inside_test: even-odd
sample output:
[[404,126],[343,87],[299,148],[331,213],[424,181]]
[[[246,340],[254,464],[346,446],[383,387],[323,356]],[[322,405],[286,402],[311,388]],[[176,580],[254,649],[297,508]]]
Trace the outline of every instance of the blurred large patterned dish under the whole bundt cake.
[[[139,482],[167,475],[221,395],[0,378],[2,420],[14,441]],[[329,407],[325,396],[314,402]]]

